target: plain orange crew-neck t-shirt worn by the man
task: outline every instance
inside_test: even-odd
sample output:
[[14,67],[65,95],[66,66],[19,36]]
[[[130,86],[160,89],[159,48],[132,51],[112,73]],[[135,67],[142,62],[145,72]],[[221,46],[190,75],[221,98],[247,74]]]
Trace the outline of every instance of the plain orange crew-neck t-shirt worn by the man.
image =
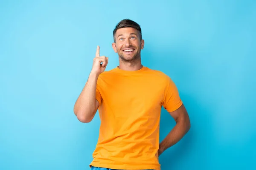
[[96,99],[101,125],[90,165],[160,170],[161,108],[172,112],[182,105],[172,79],[144,66],[137,71],[116,67],[99,75]]

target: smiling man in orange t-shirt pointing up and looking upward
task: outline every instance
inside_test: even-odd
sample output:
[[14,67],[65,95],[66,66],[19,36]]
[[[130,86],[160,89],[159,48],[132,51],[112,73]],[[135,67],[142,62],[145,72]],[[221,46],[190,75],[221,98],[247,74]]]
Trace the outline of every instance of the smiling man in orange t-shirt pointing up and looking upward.
[[[178,90],[166,74],[141,64],[144,47],[140,26],[122,20],[113,31],[119,66],[105,71],[108,57],[99,46],[87,83],[74,106],[79,121],[90,122],[99,108],[99,139],[92,169],[160,170],[158,157],[189,130],[190,121]],[[176,125],[159,143],[161,108]]]

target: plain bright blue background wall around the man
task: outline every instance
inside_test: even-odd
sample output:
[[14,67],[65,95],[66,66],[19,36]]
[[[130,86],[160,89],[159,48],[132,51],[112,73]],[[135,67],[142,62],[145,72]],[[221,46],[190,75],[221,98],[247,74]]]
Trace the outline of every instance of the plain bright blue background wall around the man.
[[[0,1],[0,169],[89,170],[99,116],[74,103],[96,46],[119,64],[112,31],[142,27],[143,65],[176,83],[189,133],[160,156],[163,170],[256,169],[256,1]],[[175,121],[163,110],[160,140]]]

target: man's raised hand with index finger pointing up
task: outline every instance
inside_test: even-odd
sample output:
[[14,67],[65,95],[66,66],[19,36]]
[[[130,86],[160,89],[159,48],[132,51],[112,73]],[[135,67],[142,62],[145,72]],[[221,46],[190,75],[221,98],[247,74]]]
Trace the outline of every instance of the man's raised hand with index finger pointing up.
[[108,64],[108,57],[105,57],[105,56],[100,57],[99,46],[97,46],[96,56],[93,59],[93,68],[91,72],[99,75],[103,73],[103,71],[105,71],[107,64]]

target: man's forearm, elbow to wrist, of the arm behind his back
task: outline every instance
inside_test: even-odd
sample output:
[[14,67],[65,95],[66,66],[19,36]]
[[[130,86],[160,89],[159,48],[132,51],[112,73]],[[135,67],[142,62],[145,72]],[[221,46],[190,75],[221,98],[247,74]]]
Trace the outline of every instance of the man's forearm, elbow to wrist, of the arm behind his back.
[[185,134],[189,131],[189,128],[190,123],[186,119],[177,121],[175,127],[170,131],[166,138],[160,142],[158,154],[162,154],[163,151],[179,142],[180,139],[182,139],[183,136],[185,136]]

